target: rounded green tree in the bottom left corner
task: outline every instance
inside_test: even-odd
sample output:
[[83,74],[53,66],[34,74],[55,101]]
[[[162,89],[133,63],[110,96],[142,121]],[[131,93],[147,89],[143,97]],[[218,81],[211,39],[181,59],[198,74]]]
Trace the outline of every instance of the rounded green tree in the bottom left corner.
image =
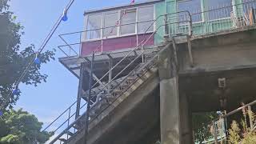
[[9,110],[0,118],[0,144],[44,143],[54,134],[41,132],[42,122],[26,111]]

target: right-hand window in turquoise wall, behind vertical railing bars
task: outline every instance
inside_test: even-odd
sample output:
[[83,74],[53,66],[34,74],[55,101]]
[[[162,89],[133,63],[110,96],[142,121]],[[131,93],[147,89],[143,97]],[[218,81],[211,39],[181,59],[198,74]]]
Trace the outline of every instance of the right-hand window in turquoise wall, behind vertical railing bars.
[[230,18],[230,12],[233,10],[232,0],[207,0],[206,4],[210,10],[206,13],[207,20]]

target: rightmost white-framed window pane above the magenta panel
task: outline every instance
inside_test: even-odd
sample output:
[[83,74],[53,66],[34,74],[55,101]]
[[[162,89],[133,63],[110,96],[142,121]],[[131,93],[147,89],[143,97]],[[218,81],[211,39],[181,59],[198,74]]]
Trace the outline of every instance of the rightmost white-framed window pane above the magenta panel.
[[138,8],[138,33],[153,31],[152,22],[154,22],[154,6]]

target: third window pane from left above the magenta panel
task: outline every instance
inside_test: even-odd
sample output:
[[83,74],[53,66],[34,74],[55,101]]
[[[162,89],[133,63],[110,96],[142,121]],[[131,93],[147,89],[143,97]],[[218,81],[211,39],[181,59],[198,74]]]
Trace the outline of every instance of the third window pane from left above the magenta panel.
[[136,22],[136,9],[122,10],[121,34],[134,34]]

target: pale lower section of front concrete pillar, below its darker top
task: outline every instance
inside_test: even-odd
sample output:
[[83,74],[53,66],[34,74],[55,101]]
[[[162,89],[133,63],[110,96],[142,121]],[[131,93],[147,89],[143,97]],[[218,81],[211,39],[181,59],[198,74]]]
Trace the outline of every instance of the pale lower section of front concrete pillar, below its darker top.
[[160,82],[160,125],[162,144],[181,143],[178,77]]

